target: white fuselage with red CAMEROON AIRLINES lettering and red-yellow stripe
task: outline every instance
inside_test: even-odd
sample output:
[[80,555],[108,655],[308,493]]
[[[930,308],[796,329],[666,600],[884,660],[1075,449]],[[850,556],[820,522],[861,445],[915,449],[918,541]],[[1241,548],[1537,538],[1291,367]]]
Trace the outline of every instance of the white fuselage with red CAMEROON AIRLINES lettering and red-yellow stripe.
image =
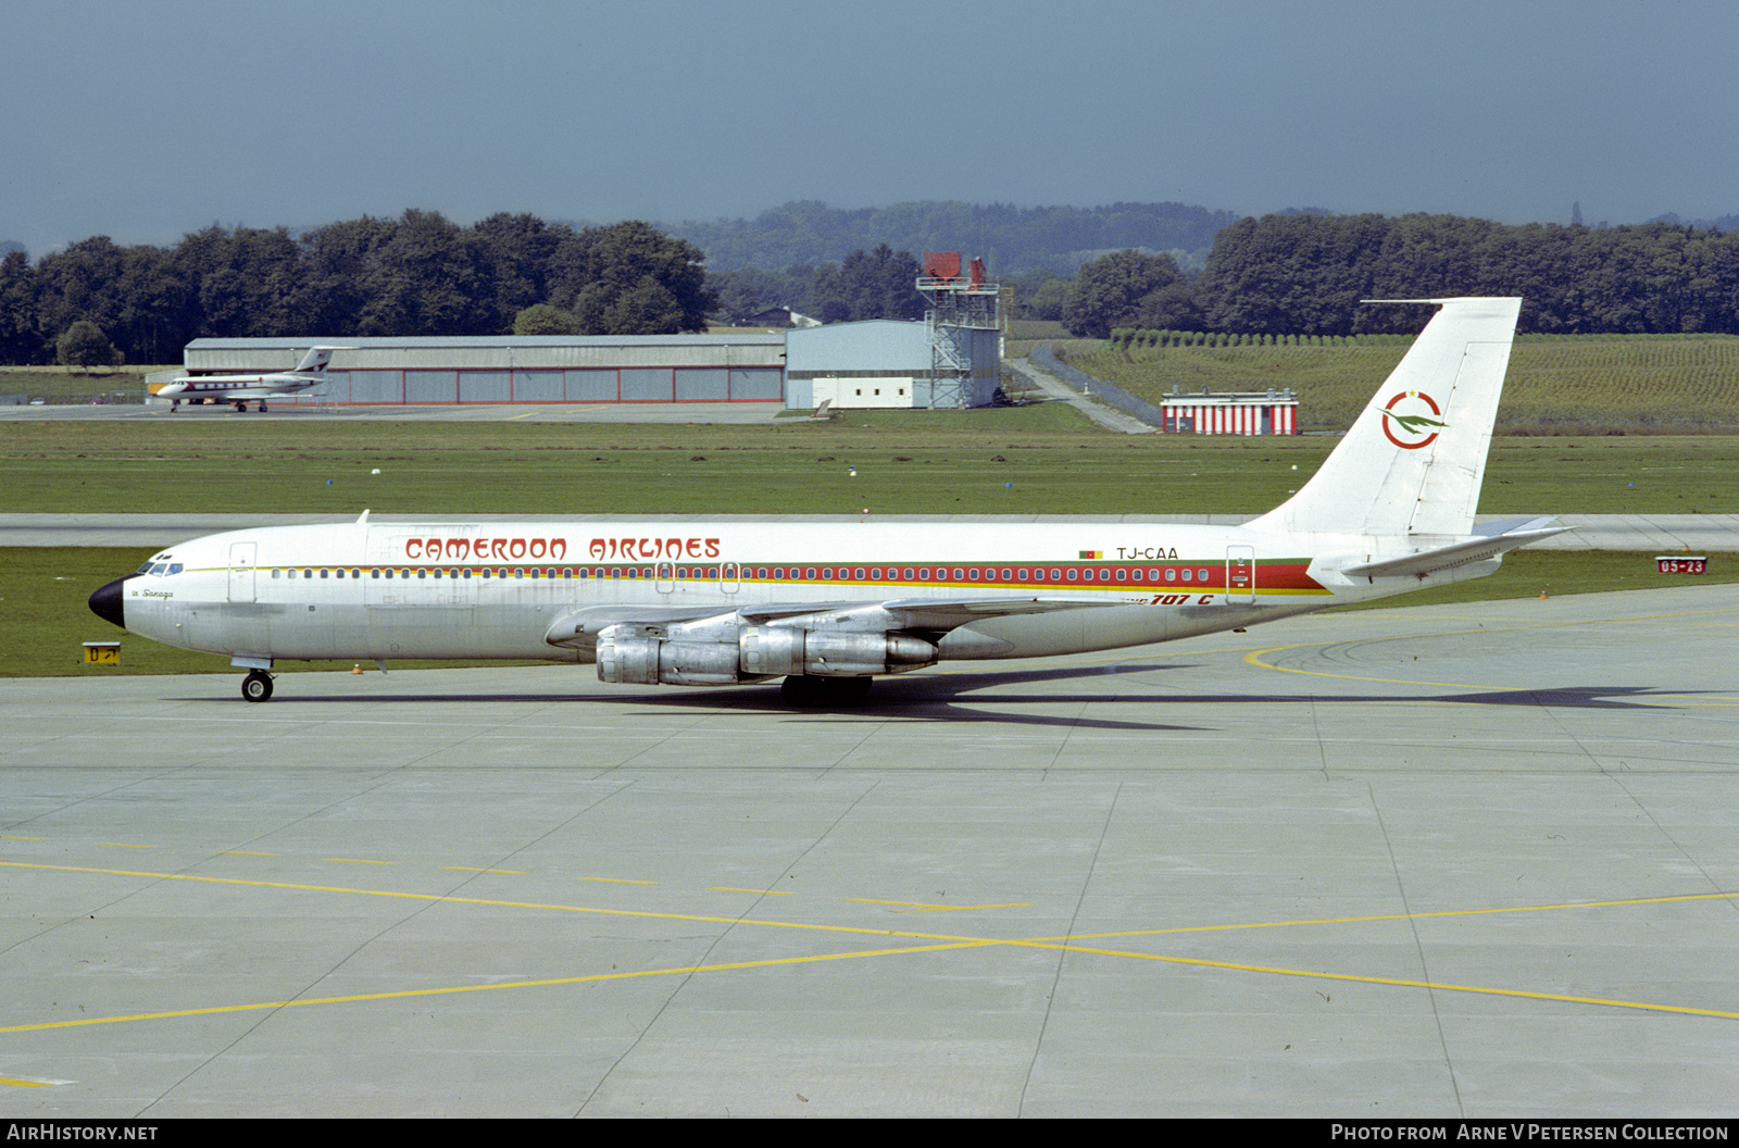
[[[1153,524],[515,522],[268,527],[165,551],[123,583],[129,630],[256,659],[590,661],[551,626],[890,600],[1104,605],[972,621],[941,657],[1031,657],[1233,630],[1417,586],[1349,579],[1358,539]],[[1462,567],[1452,581],[1489,572]],[[176,567],[177,572],[167,572]]]

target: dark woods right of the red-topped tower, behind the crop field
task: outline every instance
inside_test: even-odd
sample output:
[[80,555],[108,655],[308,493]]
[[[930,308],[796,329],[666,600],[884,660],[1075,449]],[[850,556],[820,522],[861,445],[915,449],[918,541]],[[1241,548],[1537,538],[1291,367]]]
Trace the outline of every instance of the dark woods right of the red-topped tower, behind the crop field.
[[1195,277],[1123,250],[1042,287],[1043,317],[1090,337],[1416,332],[1419,308],[1363,301],[1445,296],[1522,296],[1525,332],[1739,334],[1739,231],[1285,214],[1224,228]]

